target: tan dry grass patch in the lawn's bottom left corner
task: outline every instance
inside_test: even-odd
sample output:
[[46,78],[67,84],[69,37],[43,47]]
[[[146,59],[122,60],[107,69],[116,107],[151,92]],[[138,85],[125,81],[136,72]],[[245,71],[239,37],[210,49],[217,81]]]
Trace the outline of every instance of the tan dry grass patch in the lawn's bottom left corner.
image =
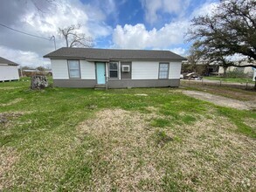
[[12,147],[0,147],[0,191],[9,185],[10,180],[6,180],[6,175],[13,168],[13,164],[17,159],[18,155],[15,149]]

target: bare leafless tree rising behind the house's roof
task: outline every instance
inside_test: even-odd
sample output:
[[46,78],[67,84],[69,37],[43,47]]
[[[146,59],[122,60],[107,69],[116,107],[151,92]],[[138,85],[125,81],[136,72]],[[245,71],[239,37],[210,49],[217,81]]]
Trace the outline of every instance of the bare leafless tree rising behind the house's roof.
[[59,28],[59,35],[65,39],[66,47],[92,47],[93,39],[86,37],[85,33],[79,33],[81,24],[71,25],[64,29]]

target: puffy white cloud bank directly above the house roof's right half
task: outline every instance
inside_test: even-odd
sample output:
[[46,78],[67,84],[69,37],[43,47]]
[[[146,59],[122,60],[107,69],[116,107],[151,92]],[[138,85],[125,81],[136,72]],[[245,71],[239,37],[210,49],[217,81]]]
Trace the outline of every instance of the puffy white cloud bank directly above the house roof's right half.
[[117,25],[113,33],[114,47],[128,49],[166,49],[171,45],[183,44],[183,31],[188,27],[187,21],[165,24],[160,30],[147,31],[144,24]]

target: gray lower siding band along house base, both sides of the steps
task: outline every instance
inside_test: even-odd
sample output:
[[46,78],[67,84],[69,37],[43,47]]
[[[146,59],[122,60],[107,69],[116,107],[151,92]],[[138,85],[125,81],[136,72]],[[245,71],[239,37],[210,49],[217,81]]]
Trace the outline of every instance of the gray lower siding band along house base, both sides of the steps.
[[[97,82],[95,79],[53,79],[53,86],[59,87],[94,87]],[[180,79],[121,79],[107,82],[108,88],[127,88],[127,87],[165,87],[179,86]]]

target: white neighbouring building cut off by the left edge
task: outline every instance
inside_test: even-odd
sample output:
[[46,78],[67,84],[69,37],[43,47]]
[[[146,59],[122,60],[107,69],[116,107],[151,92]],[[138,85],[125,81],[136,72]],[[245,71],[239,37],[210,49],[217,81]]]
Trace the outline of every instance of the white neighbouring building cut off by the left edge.
[[18,80],[17,66],[16,63],[0,57],[0,81]]

